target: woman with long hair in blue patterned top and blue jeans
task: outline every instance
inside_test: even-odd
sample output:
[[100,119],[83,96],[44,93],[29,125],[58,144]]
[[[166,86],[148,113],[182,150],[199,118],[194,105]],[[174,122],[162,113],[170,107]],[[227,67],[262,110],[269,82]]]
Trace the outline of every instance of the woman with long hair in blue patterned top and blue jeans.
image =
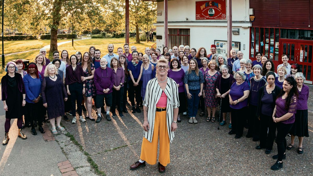
[[184,84],[187,91],[188,123],[198,123],[196,116],[198,113],[200,96],[202,96],[203,83],[203,73],[198,69],[197,61],[191,59],[189,61],[189,69],[185,72],[184,77]]

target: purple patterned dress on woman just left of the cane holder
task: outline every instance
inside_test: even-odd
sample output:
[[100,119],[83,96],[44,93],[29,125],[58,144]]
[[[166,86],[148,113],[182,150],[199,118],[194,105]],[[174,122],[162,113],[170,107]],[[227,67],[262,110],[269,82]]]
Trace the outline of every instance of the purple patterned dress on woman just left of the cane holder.
[[216,94],[216,80],[220,73],[217,71],[213,76],[209,75],[209,72],[205,72],[204,75],[204,94],[205,94],[205,106],[207,107],[217,107],[218,101],[215,98]]

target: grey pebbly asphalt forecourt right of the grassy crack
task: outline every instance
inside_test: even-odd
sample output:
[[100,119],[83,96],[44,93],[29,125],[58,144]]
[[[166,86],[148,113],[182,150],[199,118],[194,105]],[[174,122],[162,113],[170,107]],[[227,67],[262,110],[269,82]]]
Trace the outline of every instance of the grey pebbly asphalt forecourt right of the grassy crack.
[[[197,117],[198,124],[189,124],[187,116],[182,116],[178,123],[173,142],[170,144],[171,163],[164,175],[313,175],[313,87],[310,87],[309,135],[303,141],[304,153],[298,154],[298,139],[295,148],[286,151],[284,166],[278,171],[270,167],[277,154],[274,143],[273,151],[266,155],[264,150],[256,150],[259,142],[243,137],[235,139],[228,135],[227,124],[217,130],[218,122],[206,122],[206,117]],[[111,121],[102,118],[100,123],[86,119],[77,120],[76,124],[62,121],[67,131],[84,147],[99,169],[106,175],[156,175],[157,165],[147,164],[144,168],[131,171],[129,166],[138,161],[143,137],[143,112],[124,113],[124,118],[111,117]],[[141,108],[142,110],[142,108]],[[219,109],[216,116],[218,116]],[[86,112],[83,113],[86,115]],[[96,118],[93,107],[93,117]],[[111,114],[111,113],[110,113]],[[68,117],[72,119],[72,116]],[[286,137],[287,143],[290,137]]]

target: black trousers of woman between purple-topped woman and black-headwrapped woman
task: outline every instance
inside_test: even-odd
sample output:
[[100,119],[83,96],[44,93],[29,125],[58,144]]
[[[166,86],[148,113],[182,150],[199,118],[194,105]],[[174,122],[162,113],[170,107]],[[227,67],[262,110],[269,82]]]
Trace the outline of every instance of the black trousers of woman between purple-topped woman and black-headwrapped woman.
[[259,138],[260,123],[259,118],[256,116],[257,106],[249,105],[249,116],[248,116],[248,133],[247,135],[252,135],[253,137]]

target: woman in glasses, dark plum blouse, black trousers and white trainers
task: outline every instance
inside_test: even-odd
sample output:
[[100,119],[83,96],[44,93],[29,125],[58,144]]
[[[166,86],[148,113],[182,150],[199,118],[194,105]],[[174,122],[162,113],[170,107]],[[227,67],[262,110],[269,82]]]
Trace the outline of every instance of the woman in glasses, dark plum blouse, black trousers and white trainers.
[[73,115],[72,123],[76,123],[76,105],[79,120],[86,122],[82,117],[82,95],[86,92],[86,80],[82,80],[84,77],[84,70],[80,65],[77,65],[78,59],[76,55],[71,55],[70,66],[66,67],[65,85],[67,94],[71,96],[71,114]]

